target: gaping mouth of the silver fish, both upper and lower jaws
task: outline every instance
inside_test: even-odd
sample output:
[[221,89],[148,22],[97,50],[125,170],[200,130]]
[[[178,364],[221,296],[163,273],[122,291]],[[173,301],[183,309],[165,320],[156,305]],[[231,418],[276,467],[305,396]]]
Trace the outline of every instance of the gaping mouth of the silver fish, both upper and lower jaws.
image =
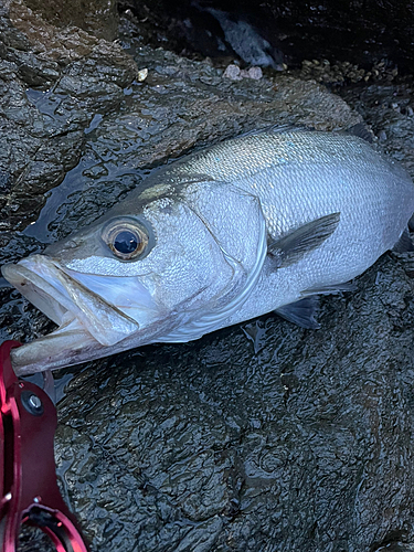
[[52,257],[31,255],[1,270],[30,302],[59,325],[52,333],[12,351],[18,375],[102,357],[102,352],[94,351],[110,349],[139,330],[137,320],[88,289]]

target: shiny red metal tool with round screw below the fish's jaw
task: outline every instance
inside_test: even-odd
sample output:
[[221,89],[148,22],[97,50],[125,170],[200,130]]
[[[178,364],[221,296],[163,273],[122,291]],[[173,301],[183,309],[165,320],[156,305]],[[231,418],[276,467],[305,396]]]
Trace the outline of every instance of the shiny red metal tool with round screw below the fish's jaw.
[[45,532],[57,552],[87,552],[57,487],[53,439],[56,408],[34,383],[19,380],[10,351],[0,347],[0,550],[14,552],[20,526]]

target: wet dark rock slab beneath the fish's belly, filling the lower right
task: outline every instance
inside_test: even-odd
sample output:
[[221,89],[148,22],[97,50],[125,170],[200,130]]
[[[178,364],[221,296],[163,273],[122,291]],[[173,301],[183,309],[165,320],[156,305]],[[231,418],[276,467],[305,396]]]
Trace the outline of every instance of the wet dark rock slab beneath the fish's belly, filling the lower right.
[[56,456],[94,550],[412,539],[413,280],[385,256],[358,287],[320,331],[256,322],[257,354],[230,328],[73,371]]

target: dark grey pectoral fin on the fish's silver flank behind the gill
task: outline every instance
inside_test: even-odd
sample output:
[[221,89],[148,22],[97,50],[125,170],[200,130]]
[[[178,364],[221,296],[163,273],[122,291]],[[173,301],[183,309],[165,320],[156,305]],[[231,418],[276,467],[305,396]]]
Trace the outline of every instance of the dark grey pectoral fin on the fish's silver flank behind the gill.
[[269,243],[267,253],[275,261],[277,268],[297,263],[333,234],[339,220],[340,213],[332,213],[309,222],[294,230],[290,234]]

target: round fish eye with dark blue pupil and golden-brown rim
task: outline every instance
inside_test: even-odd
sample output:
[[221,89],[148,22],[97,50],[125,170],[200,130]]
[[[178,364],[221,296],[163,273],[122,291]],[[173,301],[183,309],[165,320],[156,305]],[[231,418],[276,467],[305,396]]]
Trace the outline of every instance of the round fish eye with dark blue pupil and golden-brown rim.
[[104,230],[103,240],[118,258],[130,261],[146,251],[149,236],[138,222],[116,221]]

